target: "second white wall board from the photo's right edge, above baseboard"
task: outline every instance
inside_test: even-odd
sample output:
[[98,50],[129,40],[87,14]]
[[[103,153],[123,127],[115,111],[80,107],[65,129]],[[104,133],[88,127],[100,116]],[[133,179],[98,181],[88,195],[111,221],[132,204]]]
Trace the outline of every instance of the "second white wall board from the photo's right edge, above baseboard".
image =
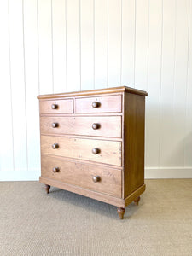
[[184,166],[185,107],[188,65],[189,0],[177,0],[173,91],[173,166]]

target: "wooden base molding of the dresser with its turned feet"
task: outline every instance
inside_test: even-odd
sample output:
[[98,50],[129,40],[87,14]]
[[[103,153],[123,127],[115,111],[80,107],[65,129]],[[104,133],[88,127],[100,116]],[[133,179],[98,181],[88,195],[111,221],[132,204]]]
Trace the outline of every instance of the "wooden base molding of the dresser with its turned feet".
[[[131,204],[132,201],[138,202],[140,200],[140,195],[145,190],[145,184],[143,184],[143,186],[139,187],[136,191],[132,192],[131,195],[127,196],[125,199],[122,199],[122,198],[118,198],[118,197],[113,197],[111,195],[105,195],[102,193],[98,193],[96,191],[92,191],[89,189],[83,189],[78,186],[73,186],[71,184],[62,183],[60,181],[53,180],[48,177],[39,177],[39,181],[40,181],[40,183],[45,184],[45,190],[47,191],[48,194],[49,194],[50,186],[52,186],[52,187],[64,189],[64,190],[67,190],[67,191],[70,191],[70,192],[73,192],[73,193],[76,193],[79,195],[84,195],[86,197],[90,197],[90,198],[96,199],[98,201],[103,201],[105,203],[108,203],[110,205],[118,207],[118,214],[119,214],[120,219],[124,218],[125,207],[127,207],[129,204]],[[138,198],[139,198],[139,200],[138,200]],[[122,209],[124,209],[124,212]]]

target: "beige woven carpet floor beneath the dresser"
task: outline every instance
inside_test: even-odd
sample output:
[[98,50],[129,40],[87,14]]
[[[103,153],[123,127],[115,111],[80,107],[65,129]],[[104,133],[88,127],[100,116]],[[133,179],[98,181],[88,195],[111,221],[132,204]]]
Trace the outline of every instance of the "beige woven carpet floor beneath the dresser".
[[0,255],[192,255],[192,179],[146,180],[138,207],[0,183]]

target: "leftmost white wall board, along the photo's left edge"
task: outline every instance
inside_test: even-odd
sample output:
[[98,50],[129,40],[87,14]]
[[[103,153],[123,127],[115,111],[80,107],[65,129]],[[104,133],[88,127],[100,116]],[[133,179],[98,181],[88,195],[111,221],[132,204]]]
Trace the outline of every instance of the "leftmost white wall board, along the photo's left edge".
[[12,105],[9,73],[9,5],[0,2],[0,88],[1,88],[1,128],[0,128],[0,180],[11,179],[14,172]]

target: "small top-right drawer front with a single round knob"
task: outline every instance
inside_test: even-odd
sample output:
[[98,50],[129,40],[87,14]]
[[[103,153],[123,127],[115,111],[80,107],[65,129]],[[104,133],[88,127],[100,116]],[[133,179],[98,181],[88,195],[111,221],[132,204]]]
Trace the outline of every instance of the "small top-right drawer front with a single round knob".
[[76,113],[121,112],[121,95],[75,99]]

